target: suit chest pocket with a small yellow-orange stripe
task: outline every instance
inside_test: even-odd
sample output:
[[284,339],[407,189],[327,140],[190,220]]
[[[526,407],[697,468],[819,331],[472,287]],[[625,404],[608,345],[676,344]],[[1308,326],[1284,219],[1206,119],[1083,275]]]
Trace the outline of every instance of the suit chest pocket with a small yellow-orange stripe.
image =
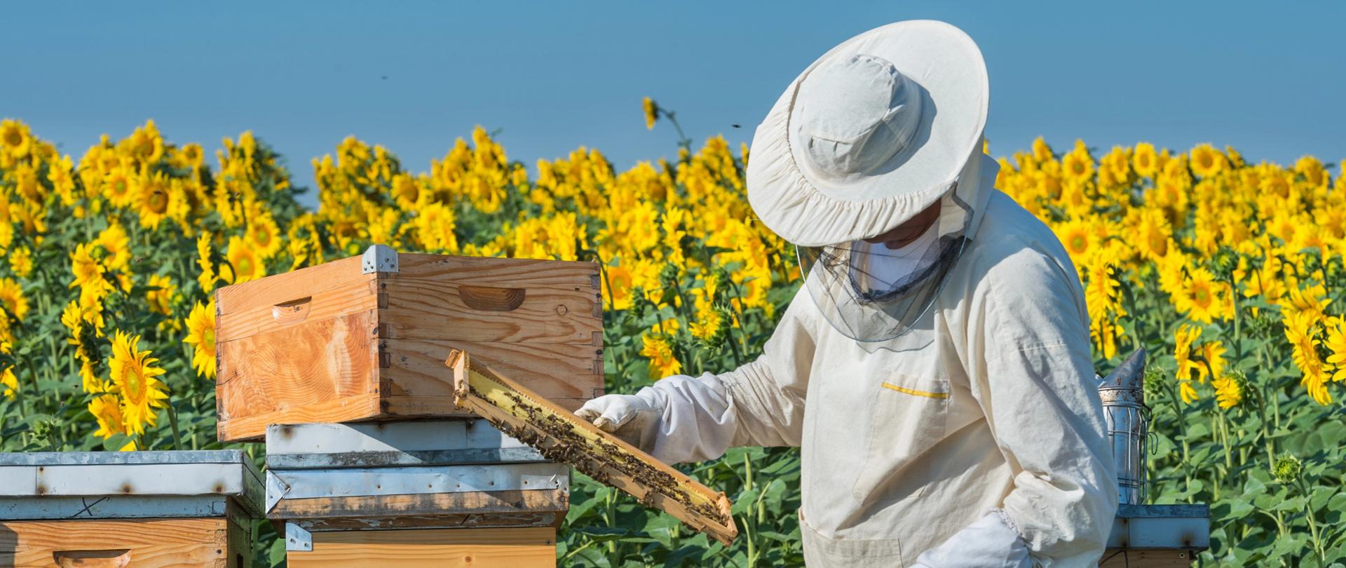
[[876,505],[921,497],[930,481],[927,454],[945,435],[949,384],[894,373],[871,389],[874,405],[855,498]]

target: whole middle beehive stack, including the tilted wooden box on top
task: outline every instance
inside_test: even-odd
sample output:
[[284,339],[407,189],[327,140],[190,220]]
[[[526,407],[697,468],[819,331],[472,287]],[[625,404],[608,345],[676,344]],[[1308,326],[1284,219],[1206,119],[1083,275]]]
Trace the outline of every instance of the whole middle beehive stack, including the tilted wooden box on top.
[[455,349],[564,408],[603,393],[592,262],[398,254],[217,292],[221,440],[267,440],[292,567],[553,565],[569,467],[459,409]]

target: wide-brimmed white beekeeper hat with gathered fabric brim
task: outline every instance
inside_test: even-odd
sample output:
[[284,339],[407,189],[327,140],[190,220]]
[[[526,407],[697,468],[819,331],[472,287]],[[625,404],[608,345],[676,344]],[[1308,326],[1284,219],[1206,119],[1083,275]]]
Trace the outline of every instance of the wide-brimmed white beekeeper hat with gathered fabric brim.
[[800,246],[883,234],[949,194],[981,153],[988,97],[981,51],[957,27],[898,22],[851,38],[758,127],[748,202]]

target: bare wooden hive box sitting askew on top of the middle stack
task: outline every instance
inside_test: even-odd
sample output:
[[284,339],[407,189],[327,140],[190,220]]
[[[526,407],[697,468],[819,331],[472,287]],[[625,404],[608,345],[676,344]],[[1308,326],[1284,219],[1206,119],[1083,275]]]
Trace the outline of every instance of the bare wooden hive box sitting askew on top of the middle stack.
[[215,293],[219,439],[268,424],[463,416],[443,361],[470,349],[556,404],[603,393],[594,262],[398,254]]

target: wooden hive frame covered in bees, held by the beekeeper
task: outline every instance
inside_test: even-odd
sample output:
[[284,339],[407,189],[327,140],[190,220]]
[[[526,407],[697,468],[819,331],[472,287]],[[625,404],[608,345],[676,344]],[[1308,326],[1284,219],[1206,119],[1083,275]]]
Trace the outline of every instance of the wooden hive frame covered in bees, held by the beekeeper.
[[720,542],[730,544],[738,537],[730,499],[723,493],[598,429],[498,371],[471,362],[464,351],[455,350],[444,363],[454,370],[459,405],[490,420],[502,432]]

